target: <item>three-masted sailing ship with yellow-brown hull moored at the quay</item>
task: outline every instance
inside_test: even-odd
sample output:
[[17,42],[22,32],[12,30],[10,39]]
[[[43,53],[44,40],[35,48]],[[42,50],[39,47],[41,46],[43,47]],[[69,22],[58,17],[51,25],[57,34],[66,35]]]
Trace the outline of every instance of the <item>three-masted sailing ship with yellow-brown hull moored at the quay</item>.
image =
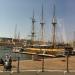
[[33,18],[32,18],[32,35],[31,35],[31,45],[26,48],[26,53],[28,54],[38,54],[38,55],[45,55],[45,56],[53,56],[55,57],[57,54],[63,55],[64,48],[56,46],[56,15],[55,15],[55,6],[53,11],[53,18],[52,18],[52,26],[53,26],[53,40],[52,45],[46,45],[44,42],[44,17],[43,17],[43,6],[42,6],[42,17],[41,17],[41,40],[40,42],[35,45],[34,37],[35,37],[35,31],[34,31],[34,24],[35,24],[35,18],[34,18],[34,12],[33,12]]

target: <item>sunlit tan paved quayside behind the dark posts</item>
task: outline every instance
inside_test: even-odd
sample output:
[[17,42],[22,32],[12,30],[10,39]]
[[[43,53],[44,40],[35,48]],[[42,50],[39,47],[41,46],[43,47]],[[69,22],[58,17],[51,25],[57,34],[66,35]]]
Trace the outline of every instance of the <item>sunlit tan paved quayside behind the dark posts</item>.
[[[17,61],[14,61],[12,63],[12,72],[11,73],[13,75],[17,75],[17,73],[16,73],[17,65],[18,65]],[[21,73],[24,72],[24,73],[27,73],[28,75],[35,75],[35,73],[36,74],[38,73],[38,75],[43,75],[43,74],[41,74],[42,73],[41,72],[42,61],[24,60],[24,61],[20,61],[19,65],[20,65],[19,68],[20,68]],[[70,73],[68,73],[68,74],[66,73],[66,58],[45,59],[44,68],[45,68],[45,71],[48,72],[47,74],[46,74],[46,72],[44,72],[44,75],[59,75],[58,73],[60,73],[61,75],[64,75],[64,74],[65,75],[75,75],[75,56],[72,56],[69,58]],[[0,66],[0,75],[1,75],[1,73],[2,74],[5,73],[5,72],[3,72],[3,66]],[[6,72],[6,74],[7,73],[8,72]],[[20,73],[20,75],[21,75],[21,73]],[[25,74],[25,75],[27,75],[27,74]]]

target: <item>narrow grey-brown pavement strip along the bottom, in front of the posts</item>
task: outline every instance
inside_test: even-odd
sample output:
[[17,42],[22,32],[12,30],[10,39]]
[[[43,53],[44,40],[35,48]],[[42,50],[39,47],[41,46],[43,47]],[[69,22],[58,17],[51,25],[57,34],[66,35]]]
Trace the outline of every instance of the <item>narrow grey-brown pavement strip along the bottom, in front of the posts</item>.
[[0,72],[0,75],[75,75],[75,72],[62,71],[24,71],[24,72]]

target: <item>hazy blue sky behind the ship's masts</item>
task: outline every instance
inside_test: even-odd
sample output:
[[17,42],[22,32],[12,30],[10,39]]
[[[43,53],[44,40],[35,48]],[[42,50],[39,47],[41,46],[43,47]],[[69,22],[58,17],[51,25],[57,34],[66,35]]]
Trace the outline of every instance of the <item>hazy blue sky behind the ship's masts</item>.
[[[51,39],[54,4],[56,5],[57,29],[59,29],[57,32],[61,31],[59,33],[61,35],[64,30],[62,39],[73,39],[75,31],[75,0],[0,0],[0,37],[14,37],[15,25],[17,24],[16,32],[20,32],[21,38],[28,38],[28,35],[31,34],[33,9],[36,19],[35,31],[36,35],[39,36],[42,3],[44,6],[45,39]],[[62,26],[64,29],[62,29]]]

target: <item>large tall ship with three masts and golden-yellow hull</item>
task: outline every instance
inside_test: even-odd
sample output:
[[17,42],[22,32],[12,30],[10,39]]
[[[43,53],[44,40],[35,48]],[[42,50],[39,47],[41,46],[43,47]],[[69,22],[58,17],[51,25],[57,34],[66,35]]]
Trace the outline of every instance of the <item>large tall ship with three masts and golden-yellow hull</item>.
[[35,17],[34,17],[34,10],[33,10],[33,17],[32,17],[32,32],[31,32],[31,44],[26,45],[24,48],[25,50],[22,53],[31,54],[31,55],[44,55],[46,57],[56,57],[56,56],[64,56],[65,49],[70,50],[71,52],[73,49],[70,45],[65,45],[64,43],[56,43],[56,26],[57,26],[57,19],[55,15],[55,5],[53,10],[53,18],[52,18],[52,42],[51,44],[47,44],[44,41],[44,15],[43,15],[43,5],[42,5],[42,16],[41,16],[41,39],[40,41],[35,41]]

